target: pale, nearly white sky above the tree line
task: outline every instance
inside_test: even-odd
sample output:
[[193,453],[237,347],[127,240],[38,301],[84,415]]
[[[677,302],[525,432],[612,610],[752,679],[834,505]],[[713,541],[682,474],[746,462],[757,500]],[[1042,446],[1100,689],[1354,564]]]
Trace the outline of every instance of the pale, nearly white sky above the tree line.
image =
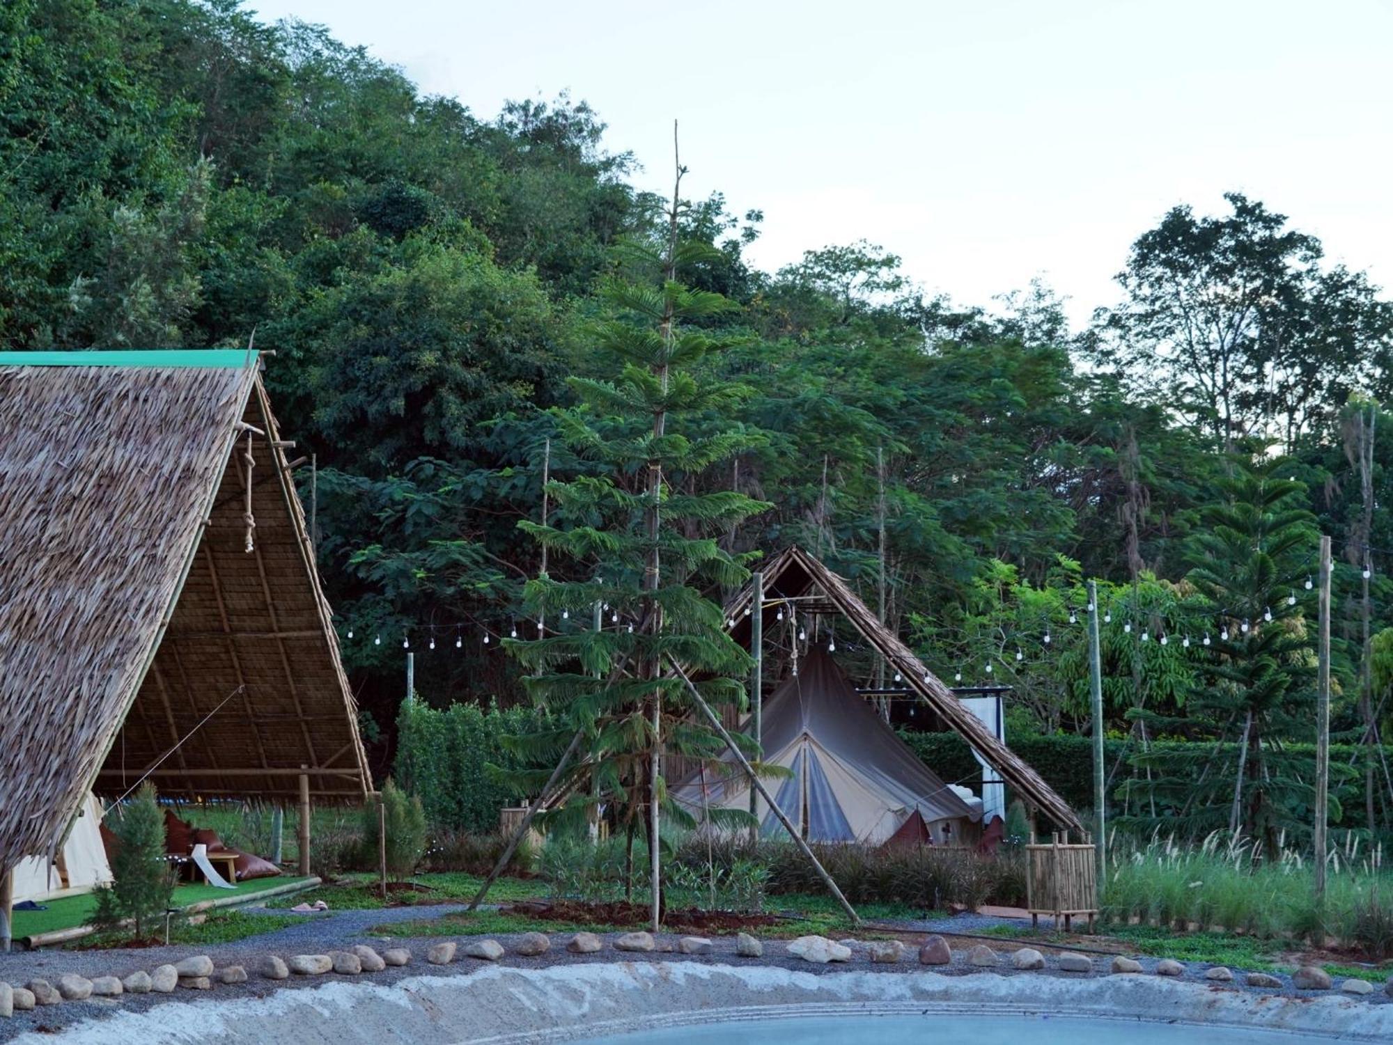
[[765,268],[868,238],[963,304],[1084,319],[1173,203],[1237,188],[1393,284],[1389,0],[249,0],[492,117],[584,98],[670,185],[765,212]]

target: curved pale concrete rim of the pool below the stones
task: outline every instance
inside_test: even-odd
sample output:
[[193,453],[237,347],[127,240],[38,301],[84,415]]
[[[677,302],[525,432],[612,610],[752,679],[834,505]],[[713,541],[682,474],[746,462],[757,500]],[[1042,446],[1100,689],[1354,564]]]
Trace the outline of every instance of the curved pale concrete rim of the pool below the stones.
[[[873,1037],[839,1017],[892,1017]],[[898,1023],[896,1021],[898,1017]],[[1151,1041],[1205,1041],[1248,1045],[1252,1041],[1393,1041],[1393,1005],[1348,996],[1265,996],[1202,982],[1162,977],[1094,978],[1021,977],[976,973],[943,975],[904,971],[812,974],[769,966],[612,961],[550,968],[486,967],[471,975],[414,975],[391,985],[334,981],[309,989],[273,991],[262,998],[170,1000],[145,1012],[111,1012],[65,1028],[61,1035],[24,1034],[14,1041],[142,1042],[142,1045],[379,1045],[380,1042],[478,1042],[542,1045],[603,1041],[634,1031],[731,1024],[712,1041],[734,1042],[751,1023],[765,1023],[759,1038],[780,1041],[766,1021],[827,1021],[839,1041],[893,1045],[904,1017],[924,1020],[922,1034],[953,1041],[942,1031],[970,1027],[985,1037],[997,1017],[1010,1017],[1018,1041],[1049,1020],[1082,1019],[1096,1027],[1094,1041],[1123,1035],[1137,1045]],[[951,1024],[947,1021],[951,1017]],[[1032,1023],[1022,1024],[1020,1017]],[[993,1024],[995,1020],[995,1024]],[[1061,1024],[1063,1025],[1063,1024]],[[1142,1037],[1142,1028],[1173,1031]],[[1266,1034],[1224,1035],[1224,1028]],[[715,1028],[712,1028],[715,1030]],[[1215,1031],[1216,1034],[1209,1034]],[[692,1039],[692,1031],[669,1038]],[[737,1037],[738,1034],[738,1037]],[[1078,1034],[1067,1035],[1078,1041]],[[651,1038],[663,1041],[663,1038]],[[807,1039],[783,1038],[781,1041]],[[901,1038],[903,1039],[903,1038]],[[642,1041],[642,1039],[638,1039]],[[979,1041],[974,1037],[972,1041]],[[1063,1038],[1060,1038],[1063,1041]]]

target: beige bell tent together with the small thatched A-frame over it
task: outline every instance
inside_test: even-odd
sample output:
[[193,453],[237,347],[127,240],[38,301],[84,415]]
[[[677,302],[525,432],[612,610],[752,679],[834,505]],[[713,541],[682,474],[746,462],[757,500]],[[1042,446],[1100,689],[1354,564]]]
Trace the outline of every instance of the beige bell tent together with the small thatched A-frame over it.
[[[800,621],[814,619],[830,619],[843,637],[854,631],[885,658],[910,695],[958,733],[1027,807],[1057,829],[1082,835],[1084,826],[1068,803],[933,676],[841,577],[801,549],[790,548],[763,566],[759,580],[761,605],[755,585],[749,584],[726,606],[736,641],[751,648],[755,613],[759,613],[759,634],[765,637],[776,635],[779,627],[795,633]],[[738,726],[754,736],[754,715],[741,723],[729,720],[726,726]],[[809,644],[797,660],[797,672],[790,670],[762,701],[758,740],[766,762],[790,771],[791,776],[770,776],[766,783],[775,790],[779,808],[809,840],[875,844],[898,835],[901,840],[961,843],[975,837],[982,819],[981,798],[946,784],[924,766],[865,704],[833,663],[826,645]],[[676,761],[671,772],[681,780],[676,789],[678,800],[698,819],[703,808],[749,808],[748,782],[738,775]],[[768,832],[770,818],[762,803],[756,816]]]

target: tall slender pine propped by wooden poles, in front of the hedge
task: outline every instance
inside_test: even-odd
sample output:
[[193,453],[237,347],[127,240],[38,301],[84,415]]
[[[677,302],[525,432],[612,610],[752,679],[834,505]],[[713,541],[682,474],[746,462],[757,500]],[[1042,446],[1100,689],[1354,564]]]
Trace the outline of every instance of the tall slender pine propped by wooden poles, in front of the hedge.
[[[574,823],[603,810],[625,832],[630,853],[635,832],[646,836],[655,929],[663,906],[660,821],[691,822],[667,801],[664,761],[677,755],[699,764],[722,752],[670,660],[701,680],[709,704],[744,704],[748,656],[726,634],[709,592],[747,577],[719,535],[766,507],[720,489],[719,479],[708,482],[729,474],[720,465],[748,446],[744,432],[696,438],[683,431],[684,419],[729,408],[742,394],[694,376],[733,343],[720,330],[731,304],[677,279],[678,269],[713,251],[678,237],[684,173],[678,164],[656,248],[630,245],[621,273],[603,290],[612,312],[592,334],[616,376],[573,378],[581,405],[560,414],[563,439],[593,471],[550,483],[554,524],[521,524],[560,556],[566,580],[543,575],[527,587],[527,605],[545,626],[536,638],[510,644],[532,673],[528,691],[553,723],[518,743],[534,755],[561,758],[581,737],[581,757],[556,789],[568,800],[552,821]],[[536,793],[542,779],[524,786]]]

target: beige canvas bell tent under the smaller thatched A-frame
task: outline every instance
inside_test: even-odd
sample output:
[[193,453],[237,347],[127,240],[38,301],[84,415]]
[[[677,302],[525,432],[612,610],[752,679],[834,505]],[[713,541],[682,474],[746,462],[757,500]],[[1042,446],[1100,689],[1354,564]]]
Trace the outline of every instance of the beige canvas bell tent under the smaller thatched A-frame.
[[[812,651],[763,702],[765,762],[791,773],[770,780],[779,808],[809,842],[887,842],[914,814],[933,843],[964,839],[982,803],[944,784],[861,698],[832,656]],[[719,771],[688,777],[674,797],[694,816],[748,810],[749,784],[727,754]],[[781,832],[758,800],[761,832]]]

